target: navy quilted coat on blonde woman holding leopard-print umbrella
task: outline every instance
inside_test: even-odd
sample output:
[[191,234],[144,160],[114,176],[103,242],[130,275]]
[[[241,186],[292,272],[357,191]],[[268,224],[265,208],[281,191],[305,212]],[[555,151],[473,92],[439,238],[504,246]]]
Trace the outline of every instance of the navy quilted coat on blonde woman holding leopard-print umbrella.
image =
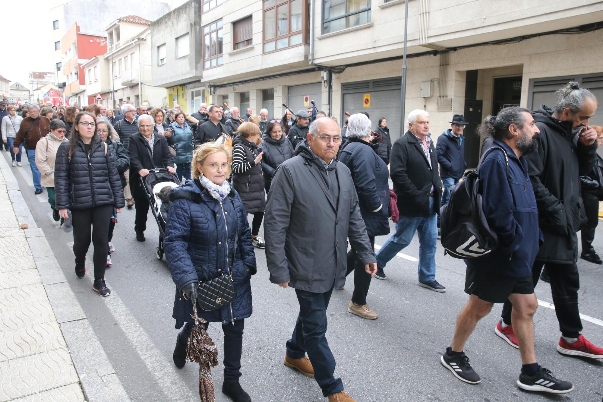
[[[199,317],[208,322],[230,324],[251,316],[251,275],[256,273],[256,255],[251,243],[251,229],[241,197],[231,191],[222,203],[215,200],[197,180],[169,192],[172,206],[169,209],[163,247],[166,261],[176,284],[174,311],[176,328],[192,322],[192,304],[185,300],[180,290],[199,278],[211,277],[219,272],[231,272],[236,288],[236,299],[213,311],[197,310]],[[224,225],[226,218],[227,228]],[[236,255],[235,234],[239,240]],[[229,264],[230,263],[230,264]]]

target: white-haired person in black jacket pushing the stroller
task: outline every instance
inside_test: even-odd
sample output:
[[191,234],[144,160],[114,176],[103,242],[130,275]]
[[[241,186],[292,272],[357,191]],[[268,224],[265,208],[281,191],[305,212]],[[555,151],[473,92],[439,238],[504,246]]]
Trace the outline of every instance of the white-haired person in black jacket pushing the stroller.
[[138,130],[130,136],[128,153],[130,154],[130,191],[136,206],[134,231],[136,240],[145,241],[149,203],[144,189],[140,185],[140,177],[149,174],[149,170],[162,167],[169,173],[176,173],[174,157],[169,152],[168,140],[163,135],[155,135],[155,123],[150,115],[138,117]]

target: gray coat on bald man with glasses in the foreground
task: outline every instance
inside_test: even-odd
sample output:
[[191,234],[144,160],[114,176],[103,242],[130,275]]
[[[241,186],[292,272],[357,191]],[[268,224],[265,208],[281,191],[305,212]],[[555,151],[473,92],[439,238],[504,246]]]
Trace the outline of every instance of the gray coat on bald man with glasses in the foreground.
[[[352,174],[333,160],[338,203],[325,183],[323,161],[300,144],[297,156],[283,162],[274,174],[264,218],[266,260],[270,281],[314,293],[344,281],[347,239],[363,264],[376,262],[358,207]],[[335,254],[334,264],[325,264]]]

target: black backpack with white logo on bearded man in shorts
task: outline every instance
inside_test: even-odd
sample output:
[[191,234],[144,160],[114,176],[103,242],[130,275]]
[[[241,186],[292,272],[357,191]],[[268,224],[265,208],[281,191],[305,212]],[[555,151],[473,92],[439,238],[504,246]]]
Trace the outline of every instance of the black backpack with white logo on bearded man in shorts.
[[[493,150],[500,150],[507,162],[507,177],[509,177],[509,158],[507,152],[500,147],[491,147],[486,155]],[[479,167],[478,167],[479,168]],[[481,183],[478,171],[472,170],[464,174],[463,180],[450,191],[449,202],[440,208],[441,243],[444,255],[454,258],[482,257],[498,246],[496,232],[490,229],[482,208]]]

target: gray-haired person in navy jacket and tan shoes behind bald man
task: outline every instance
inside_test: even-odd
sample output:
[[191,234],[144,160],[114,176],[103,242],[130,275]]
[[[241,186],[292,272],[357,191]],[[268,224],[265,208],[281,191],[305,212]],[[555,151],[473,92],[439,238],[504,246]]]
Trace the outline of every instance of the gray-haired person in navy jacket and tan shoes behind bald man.
[[[339,154],[339,162],[352,173],[352,180],[358,193],[360,214],[367,227],[371,246],[375,237],[390,233],[388,206],[390,205],[389,171],[383,159],[379,158],[379,144],[371,144],[371,121],[362,113],[350,116],[347,125],[347,141]],[[354,291],[347,311],[365,319],[374,320],[379,315],[367,304],[371,275],[364,270],[364,263],[352,249],[347,254],[347,273],[354,272]],[[341,289],[343,284],[335,284]]]

